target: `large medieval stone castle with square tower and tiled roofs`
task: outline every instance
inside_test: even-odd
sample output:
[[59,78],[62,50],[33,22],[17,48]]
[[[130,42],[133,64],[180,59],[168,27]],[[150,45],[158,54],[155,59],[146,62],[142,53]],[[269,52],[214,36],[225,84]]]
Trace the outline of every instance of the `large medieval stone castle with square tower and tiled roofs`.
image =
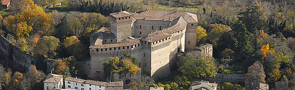
[[177,55],[196,47],[197,24],[197,15],[177,10],[110,13],[110,28],[90,36],[88,77],[108,80],[103,62],[123,53],[137,58],[142,74],[154,80],[168,77]]

